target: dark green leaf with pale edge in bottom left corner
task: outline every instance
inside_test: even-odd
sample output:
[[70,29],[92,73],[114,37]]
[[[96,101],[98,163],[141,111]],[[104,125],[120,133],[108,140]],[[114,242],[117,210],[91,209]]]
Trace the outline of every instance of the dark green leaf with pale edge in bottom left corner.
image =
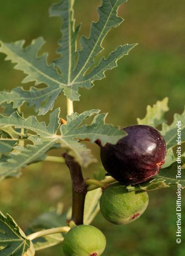
[[1,256],[34,256],[32,242],[26,239],[14,219],[0,212],[0,254]]

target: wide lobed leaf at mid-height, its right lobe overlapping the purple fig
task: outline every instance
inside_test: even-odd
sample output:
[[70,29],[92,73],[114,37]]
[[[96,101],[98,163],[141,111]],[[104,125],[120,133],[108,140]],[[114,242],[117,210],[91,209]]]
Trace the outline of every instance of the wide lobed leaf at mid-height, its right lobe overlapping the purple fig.
[[[99,114],[97,109],[85,111],[81,114],[73,113],[67,116],[67,124],[62,126],[60,126],[59,113],[60,109],[58,108],[50,114],[48,126],[44,122],[39,123],[35,116],[23,119],[17,112],[14,112],[11,116],[0,115],[0,129],[1,127],[4,130],[6,128],[25,128],[25,131],[35,132],[35,135],[29,135],[29,133],[24,135],[27,135],[27,139],[33,145],[15,146],[7,158],[1,159],[0,180],[18,176],[21,168],[41,161],[47,151],[58,147],[65,148],[68,154],[74,156],[81,166],[87,167],[96,159],[91,154],[90,149],[79,141],[88,138],[92,143],[100,139],[102,145],[106,142],[116,144],[125,135],[118,127],[105,124],[106,114]],[[85,119],[93,115],[95,116],[90,125],[83,124]],[[58,129],[59,126],[60,130]],[[57,131],[60,132],[60,135],[57,134]]]

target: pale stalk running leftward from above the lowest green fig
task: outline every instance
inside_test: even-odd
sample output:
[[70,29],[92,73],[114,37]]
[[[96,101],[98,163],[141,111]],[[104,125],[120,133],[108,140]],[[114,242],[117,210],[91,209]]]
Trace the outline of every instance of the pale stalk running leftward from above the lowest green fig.
[[70,230],[69,227],[59,227],[59,228],[50,228],[46,230],[42,230],[39,232],[32,233],[31,235],[27,236],[27,239],[33,240],[39,237],[44,237],[46,235],[56,234],[56,233],[67,233]]

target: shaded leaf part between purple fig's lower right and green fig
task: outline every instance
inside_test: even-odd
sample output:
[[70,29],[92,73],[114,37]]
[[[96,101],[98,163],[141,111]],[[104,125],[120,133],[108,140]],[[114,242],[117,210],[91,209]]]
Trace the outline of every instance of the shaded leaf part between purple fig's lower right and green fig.
[[[185,156],[182,156],[180,165],[185,164]],[[177,178],[178,163],[174,162],[170,166],[160,170],[160,172],[155,175],[152,179],[136,184],[129,185],[127,189],[129,191],[139,191],[139,190],[156,190],[160,188],[169,187],[171,184],[180,184],[182,189],[185,187],[185,169],[181,167],[181,178]]]

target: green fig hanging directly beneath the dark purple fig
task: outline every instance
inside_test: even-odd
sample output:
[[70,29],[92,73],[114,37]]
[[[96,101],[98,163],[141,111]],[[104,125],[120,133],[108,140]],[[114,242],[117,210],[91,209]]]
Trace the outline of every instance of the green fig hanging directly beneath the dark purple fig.
[[138,219],[148,206],[147,192],[128,192],[121,183],[107,186],[100,199],[100,211],[109,222],[120,225]]

